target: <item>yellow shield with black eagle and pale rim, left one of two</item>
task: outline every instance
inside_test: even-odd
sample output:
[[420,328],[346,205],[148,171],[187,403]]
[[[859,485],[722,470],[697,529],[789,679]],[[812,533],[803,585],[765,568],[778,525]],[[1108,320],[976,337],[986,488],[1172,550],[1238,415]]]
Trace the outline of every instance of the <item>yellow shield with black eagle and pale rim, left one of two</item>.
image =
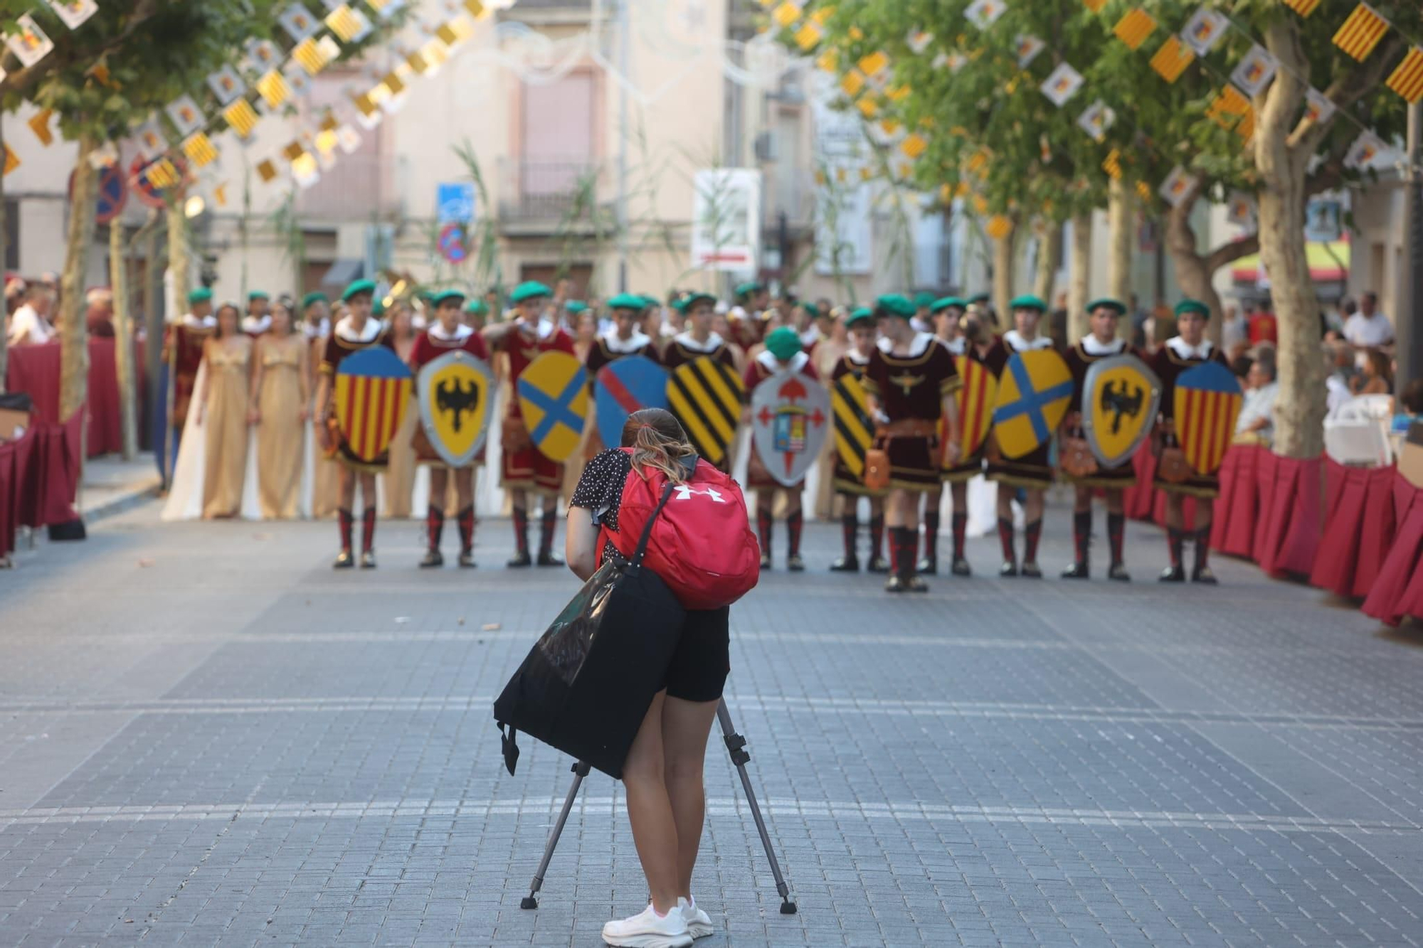
[[447,352],[416,379],[420,426],[440,460],[467,467],[490,434],[494,417],[494,373],[462,349]]

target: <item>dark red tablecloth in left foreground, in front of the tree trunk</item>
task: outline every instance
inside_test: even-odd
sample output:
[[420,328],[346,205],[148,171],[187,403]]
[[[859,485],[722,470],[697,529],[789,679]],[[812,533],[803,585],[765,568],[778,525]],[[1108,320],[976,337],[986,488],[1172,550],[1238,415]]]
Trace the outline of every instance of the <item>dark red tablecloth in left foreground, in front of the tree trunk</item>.
[[68,424],[38,421],[18,441],[0,444],[0,557],[14,549],[16,527],[77,520],[83,416]]

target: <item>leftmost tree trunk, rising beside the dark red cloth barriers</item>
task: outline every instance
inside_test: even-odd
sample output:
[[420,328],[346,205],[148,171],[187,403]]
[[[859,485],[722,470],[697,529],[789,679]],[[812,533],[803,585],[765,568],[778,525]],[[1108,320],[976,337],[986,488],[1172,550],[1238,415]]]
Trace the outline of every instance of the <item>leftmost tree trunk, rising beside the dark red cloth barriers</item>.
[[80,138],[70,195],[70,226],[60,278],[60,421],[84,407],[88,397],[88,333],[84,325],[84,275],[94,243],[94,194],[98,172],[90,155],[98,145],[92,135]]

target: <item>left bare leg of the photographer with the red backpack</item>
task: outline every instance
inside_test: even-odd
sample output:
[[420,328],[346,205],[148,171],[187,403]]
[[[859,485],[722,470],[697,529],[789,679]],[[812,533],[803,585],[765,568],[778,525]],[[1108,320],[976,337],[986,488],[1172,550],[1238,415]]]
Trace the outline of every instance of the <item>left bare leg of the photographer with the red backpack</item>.
[[652,707],[642,719],[642,727],[638,729],[638,737],[623,764],[632,840],[647,877],[652,907],[660,914],[677,907],[677,824],[667,799],[662,746],[662,709],[666,697],[663,690],[652,699]]

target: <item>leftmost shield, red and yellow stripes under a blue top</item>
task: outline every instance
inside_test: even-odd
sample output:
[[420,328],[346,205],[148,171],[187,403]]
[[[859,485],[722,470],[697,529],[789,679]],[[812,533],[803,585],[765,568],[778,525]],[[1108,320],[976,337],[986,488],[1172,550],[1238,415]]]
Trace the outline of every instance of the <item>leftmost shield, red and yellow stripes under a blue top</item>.
[[336,372],[336,424],[347,450],[374,463],[390,447],[410,407],[414,376],[400,356],[373,346],[342,359]]

